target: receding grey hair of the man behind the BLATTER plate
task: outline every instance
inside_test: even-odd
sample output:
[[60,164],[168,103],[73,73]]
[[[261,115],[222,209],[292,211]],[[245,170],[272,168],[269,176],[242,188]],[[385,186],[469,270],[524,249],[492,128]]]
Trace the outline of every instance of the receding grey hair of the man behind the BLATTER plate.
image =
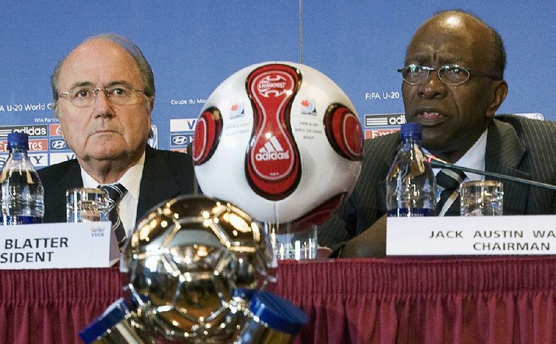
[[[117,35],[115,33],[103,33],[101,35],[96,35],[87,38],[83,41],[83,43],[89,42],[91,40],[108,40],[109,42],[113,42],[114,44],[119,45],[120,47],[122,47],[122,49],[127,51],[133,57],[133,60],[135,60],[135,62],[137,63],[137,67],[139,68],[139,72],[141,74],[141,80],[143,83],[142,88],[145,92],[145,95],[149,98],[155,95],[156,90],[154,88],[154,74],[152,73],[151,65],[149,65],[149,62],[143,55],[141,49],[139,49],[139,47],[135,43],[133,43],[129,38],[126,38],[122,35]],[[56,67],[54,67],[54,72],[52,73],[52,76],[50,78],[55,110],[56,108],[58,108],[58,99],[60,97],[60,90],[58,89],[60,69],[62,69],[62,65],[64,64],[66,59],[67,56],[56,63]]]

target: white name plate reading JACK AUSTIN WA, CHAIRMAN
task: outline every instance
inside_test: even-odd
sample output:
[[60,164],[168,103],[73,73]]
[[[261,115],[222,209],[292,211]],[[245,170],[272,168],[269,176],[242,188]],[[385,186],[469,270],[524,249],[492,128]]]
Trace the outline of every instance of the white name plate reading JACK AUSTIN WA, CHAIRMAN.
[[556,215],[388,218],[386,255],[556,254]]

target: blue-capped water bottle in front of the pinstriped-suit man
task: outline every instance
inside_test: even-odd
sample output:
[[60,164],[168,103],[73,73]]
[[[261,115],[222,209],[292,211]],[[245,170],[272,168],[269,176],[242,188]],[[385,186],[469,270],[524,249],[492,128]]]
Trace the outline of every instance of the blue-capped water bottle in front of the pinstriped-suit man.
[[390,217],[434,216],[436,183],[420,147],[421,127],[403,124],[402,145],[386,177],[386,206]]

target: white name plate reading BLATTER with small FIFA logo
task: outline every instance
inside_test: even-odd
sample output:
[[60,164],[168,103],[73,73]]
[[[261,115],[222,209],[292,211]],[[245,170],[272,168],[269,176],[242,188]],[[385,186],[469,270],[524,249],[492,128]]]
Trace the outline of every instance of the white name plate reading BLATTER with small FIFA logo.
[[111,222],[0,226],[0,270],[108,268],[119,258]]

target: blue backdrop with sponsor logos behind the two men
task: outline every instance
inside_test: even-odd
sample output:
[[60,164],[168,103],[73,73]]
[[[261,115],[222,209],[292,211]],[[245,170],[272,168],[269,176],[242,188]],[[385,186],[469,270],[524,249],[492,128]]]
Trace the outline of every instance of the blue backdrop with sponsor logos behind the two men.
[[212,90],[268,60],[327,74],[352,99],[368,136],[388,132],[384,123],[402,121],[395,69],[412,33],[451,8],[479,15],[505,40],[509,95],[499,113],[556,119],[552,1],[10,1],[1,8],[0,158],[7,133],[26,131],[38,166],[72,157],[49,109],[56,61],[106,32],[131,38],[154,69],[153,145],[162,149],[184,149]]

